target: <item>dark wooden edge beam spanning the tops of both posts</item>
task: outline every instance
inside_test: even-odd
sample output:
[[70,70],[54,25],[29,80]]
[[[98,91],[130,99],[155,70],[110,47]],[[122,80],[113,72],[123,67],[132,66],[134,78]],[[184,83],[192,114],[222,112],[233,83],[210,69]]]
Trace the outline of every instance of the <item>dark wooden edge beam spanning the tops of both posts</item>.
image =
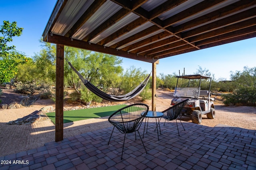
[[110,55],[116,55],[116,56],[125,57],[128,59],[145,61],[148,63],[156,63],[156,64],[159,63],[158,59],[152,59],[146,56],[137,55],[134,53],[128,53],[127,51],[116,50],[110,47],[104,47],[103,45],[93,44],[93,43],[89,43],[89,42],[81,41],[77,39],[71,39],[69,37],[64,37],[56,34],[51,35],[50,33],[48,33],[47,42],[55,43],[55,44],[63,44],[70,47],[76,47],[80,49],[86,49],[86,50],[106,53]]

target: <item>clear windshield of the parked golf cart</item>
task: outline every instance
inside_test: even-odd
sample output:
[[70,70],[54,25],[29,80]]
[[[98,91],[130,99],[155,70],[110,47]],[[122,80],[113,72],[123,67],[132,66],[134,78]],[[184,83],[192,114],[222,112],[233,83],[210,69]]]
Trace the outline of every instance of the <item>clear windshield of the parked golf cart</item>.
[[200,88],[199,87],[176,87],[174,96],[178,97],[188,97],[188,98],[198,98]]

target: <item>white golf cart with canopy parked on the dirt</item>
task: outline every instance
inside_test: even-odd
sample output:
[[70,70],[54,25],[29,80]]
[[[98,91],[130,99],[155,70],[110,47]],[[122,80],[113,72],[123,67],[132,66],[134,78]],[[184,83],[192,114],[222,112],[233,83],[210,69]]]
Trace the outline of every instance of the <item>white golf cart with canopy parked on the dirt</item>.
[[[182,116],[190,116],[193,123],[200,124],[202,115],[206,114],[208,119],[214,119],[215,110],[213,101],[210,98],[212,78],[201,74],[176,76],[177,84],[174,92],[174,99],[171,105],[175,105],[183,100],[189,99],[182,109]],[[203,90],[201,90],[201,86]]]

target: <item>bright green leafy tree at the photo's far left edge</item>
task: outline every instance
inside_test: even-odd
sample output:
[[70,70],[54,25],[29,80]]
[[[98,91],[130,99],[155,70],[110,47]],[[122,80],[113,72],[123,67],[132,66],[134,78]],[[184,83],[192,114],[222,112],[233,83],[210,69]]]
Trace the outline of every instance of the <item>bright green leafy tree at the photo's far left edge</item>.
[[14,21],[3,21],[0,26],[0,83],[10,82],[18,72],[17,66],[31,60],[24,54],[15,50],[15,46],[8,46],[7,43],[12,42],[12,37],[22,34],[22,27],[18,27]]

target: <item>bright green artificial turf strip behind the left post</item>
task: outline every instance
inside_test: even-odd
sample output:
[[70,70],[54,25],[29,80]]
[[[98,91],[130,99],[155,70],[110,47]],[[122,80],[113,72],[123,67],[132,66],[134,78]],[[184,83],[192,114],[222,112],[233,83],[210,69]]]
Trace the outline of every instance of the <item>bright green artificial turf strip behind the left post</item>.
[[[106,106],[106,107],[96,107],[96,108],[89,108],[89,109],[64,111],[63,123],[110,116],[112,113],[114,113],[118,109],[121,109],[122,107],[125,107],[125,106],[127,105],[123,104],[123,105],[116,105],[116,106]],[[46,113],[46,115],[55,124],[55,112]]]

